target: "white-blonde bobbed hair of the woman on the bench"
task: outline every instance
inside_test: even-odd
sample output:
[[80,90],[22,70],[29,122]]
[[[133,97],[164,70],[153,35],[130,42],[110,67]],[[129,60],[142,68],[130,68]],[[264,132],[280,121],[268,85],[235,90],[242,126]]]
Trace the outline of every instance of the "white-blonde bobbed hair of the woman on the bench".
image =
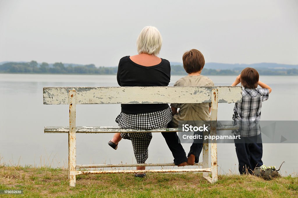
[[156,27],[144,27],[136,39],[136,47],[139,54],[145,53],[156,56],[162,48],[162,35]]

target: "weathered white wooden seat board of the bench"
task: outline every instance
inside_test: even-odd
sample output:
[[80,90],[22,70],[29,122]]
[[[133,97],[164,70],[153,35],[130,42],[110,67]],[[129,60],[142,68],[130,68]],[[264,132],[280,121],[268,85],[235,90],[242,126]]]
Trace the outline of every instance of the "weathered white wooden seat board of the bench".
[[[221,124],[216,127],[216,130],[235,130],[238,126],[233,124]],[[122,129],[119,126],[77,126],[77,133],[144,133],[144,132],[178,132],[182,128],[164,128],[152,130],[136,130],[136,129]],[[48,126],[44,128],[45,133],[68,133],[69,126]]]

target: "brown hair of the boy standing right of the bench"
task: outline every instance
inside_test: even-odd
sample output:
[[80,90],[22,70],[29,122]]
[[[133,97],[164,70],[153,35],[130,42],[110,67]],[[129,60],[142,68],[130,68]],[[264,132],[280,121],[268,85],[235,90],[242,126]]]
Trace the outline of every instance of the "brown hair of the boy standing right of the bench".
[[240,74],[241,84],[244,88],[255,89],[258,87],[259,73],[251,67],[246,67]]

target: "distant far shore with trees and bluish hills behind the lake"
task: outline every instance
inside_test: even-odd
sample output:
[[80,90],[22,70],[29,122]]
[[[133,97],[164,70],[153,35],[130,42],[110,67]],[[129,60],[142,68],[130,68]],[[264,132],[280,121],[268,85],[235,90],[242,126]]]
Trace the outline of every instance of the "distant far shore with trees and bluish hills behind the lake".
[[[260,75],[298,75],[298,65],[256,63],[256,64],[223,64],[206,63],[202,71],[203,75],[238,75],[245,67],[254,67]],[[3,62],[0,64],[0,73],[51,73],[51,74],[117,74],[117,66],[96,67],[94,64],[69,64],[56,62]],[[179,62],[171,62],[172,75],[186,75],[183,66]]]

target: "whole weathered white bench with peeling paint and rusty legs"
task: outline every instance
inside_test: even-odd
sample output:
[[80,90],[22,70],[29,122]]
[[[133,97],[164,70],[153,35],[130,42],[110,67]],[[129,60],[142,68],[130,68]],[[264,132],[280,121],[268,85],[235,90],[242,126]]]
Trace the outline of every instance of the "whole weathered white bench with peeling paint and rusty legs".
[[[168,170],[111,170],[81,171],[80,168],[135,167],[135,166],[174,166],[174,163],[159,164],[101,164],[76,165],[76,133],[143,133],[143,132],[178,132],[181,128],[135,130],[119,127],[86,127],[76,126],[77,104],[150,104],[150,103],[211,103],[211,135],[216,130],[237,129],[237,126],[216,126],[218,103],[241,102],[240,86],[186,86],[186,87],[44,87],[44,104],[69,105],[69,126],[45,127],[45,133],[68,133],[69,185],[75,186],[76,175],[111,174],[111,173],[165,173],[165,172],[203,172],[209,182],[217,181],[217,145],[210,140],[211,167],[209,167],[209,145],[203,144],[203,162],[195,165],[197,169]],[[77,170],[78,169],[78,170]],[[209,173],[212,177],[209,177]]]

